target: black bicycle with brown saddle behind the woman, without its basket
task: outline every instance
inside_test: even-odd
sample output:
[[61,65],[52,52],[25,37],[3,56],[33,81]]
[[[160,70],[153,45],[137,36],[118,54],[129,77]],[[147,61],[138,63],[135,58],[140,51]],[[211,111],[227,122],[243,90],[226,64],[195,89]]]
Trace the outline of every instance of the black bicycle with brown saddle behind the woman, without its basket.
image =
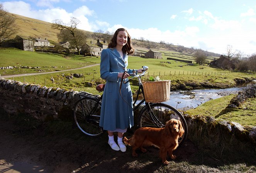
[[[166,105],[164,103],[147,103],[145,101],[141,77],[146,75],[148,67],[142,66],[142,68],[142,71],[144,72],[141,74],[131,73],[130,76],[132,76],[132,78],[127,81],[129,82],[133,78],[137,78],[139,81],[139,90],[137,91],[137,96],[133,103],[134,112],[138,110],[139,106],[145,103],[138,116],[138,126],[162,128],[165,123],[172,118],[180,120],[185,133],[179,138],[179,144],[183,143],[188,134],[188,127],[185,118],[178,110],[176,110],[176,108],[170,105]],[[102,92],[104,87],[105,84],[99,84],[96,86],[96,90]],[[143,99],[136,105],[140,92],[142,93]],[[73,107],[73,117],[76,125],[86,135],[101,135],[104,132],[102,127],[99,126],[102,95],[92,95],[86,92],[80,92],[78,95],[80,99]]]

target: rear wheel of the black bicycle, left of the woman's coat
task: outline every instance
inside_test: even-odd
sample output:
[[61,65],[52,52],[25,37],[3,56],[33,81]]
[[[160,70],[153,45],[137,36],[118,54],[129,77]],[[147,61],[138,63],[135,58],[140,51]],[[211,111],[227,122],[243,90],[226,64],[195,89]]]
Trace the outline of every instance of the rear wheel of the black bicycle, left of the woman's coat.
[[89,136],[99,136],[103,129],[99,126],[101,102],[97,99],[82,98],[73,108],[73,117],[78,128]]

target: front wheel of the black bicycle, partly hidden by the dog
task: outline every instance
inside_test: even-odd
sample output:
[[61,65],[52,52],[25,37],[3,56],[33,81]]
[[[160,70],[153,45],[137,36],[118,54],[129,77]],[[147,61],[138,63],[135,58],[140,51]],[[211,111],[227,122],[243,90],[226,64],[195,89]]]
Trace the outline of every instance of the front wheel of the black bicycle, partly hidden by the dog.
[[183,143],[188,135],[188,126],[183,115],[174,107],[164,103],[150,103],[150,107],[150,110],[147,110],[147,107],[142,109],[138,119],[139,126],[163,128],[166,122],[171,119],[180,120],[185,132],[178,141],[179,144]]

